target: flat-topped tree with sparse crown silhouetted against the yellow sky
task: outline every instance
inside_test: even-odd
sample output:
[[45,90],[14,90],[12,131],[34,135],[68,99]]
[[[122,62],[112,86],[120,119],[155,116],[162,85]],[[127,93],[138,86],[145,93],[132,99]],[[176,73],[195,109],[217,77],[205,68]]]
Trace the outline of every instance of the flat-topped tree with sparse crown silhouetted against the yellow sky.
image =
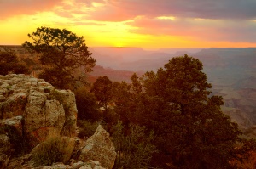
[[28,37],[32,42],[26,41],[23,46],[39,53],[39,60],[44,65],[39,77],[55,87],[67,88],[67,84],[85,82],[84,73],[90,72],[96,63],[96,59],[90,56],[84,37],[66,29],[40,27]]

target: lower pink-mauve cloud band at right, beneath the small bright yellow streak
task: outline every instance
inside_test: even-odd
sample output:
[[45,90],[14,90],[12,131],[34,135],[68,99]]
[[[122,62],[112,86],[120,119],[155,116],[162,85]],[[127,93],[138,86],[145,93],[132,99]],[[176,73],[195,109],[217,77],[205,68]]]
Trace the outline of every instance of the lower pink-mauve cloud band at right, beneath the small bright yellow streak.
[[256,42],[256,22],[252,20],[204,20],[137,17],[131,26],[138,34],[194,37],[204,41]]

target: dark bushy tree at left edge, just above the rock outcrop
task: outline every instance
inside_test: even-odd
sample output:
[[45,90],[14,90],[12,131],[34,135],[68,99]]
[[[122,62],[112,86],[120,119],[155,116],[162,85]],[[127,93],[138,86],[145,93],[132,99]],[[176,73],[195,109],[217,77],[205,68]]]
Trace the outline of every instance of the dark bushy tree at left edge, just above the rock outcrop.
[[9,73],[29,74],[30,72],[31,70],[29,70],[28,66],[20,61],[14,53],[0,53],[0,75]]

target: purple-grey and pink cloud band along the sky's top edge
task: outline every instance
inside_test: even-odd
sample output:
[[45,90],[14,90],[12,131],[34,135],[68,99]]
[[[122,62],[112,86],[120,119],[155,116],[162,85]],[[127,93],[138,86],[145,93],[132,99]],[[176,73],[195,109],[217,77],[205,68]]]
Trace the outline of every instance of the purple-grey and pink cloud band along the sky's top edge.
[[108,0],[91,14],[94,20],[130,20],[137,15],[172,15],[213,20],[253,20],[255,0]]

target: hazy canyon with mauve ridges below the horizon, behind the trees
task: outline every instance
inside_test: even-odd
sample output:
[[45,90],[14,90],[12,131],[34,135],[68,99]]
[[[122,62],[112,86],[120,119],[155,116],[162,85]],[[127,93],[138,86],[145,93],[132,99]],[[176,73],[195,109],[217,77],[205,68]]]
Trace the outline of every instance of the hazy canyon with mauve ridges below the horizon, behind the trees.
[[[13,50],[26,62],[35,60],[19,46],[0,46],[0,50]],[[212,94],[224,97],[224,113],[230,115],[241,129],[256,136],[256,48],[161,48],[148,51],[143,48],[89,48],[97,60],[90,81],[97,76],[108,76],[112,81],[130,82],[130,76],[163,67],[169,59],[188,54],[200,59]],[[33,65],[35,68],[36,65]],[[256,126],[255,126],[256,128]],[[256,131],[256,130],[255,130]]]

